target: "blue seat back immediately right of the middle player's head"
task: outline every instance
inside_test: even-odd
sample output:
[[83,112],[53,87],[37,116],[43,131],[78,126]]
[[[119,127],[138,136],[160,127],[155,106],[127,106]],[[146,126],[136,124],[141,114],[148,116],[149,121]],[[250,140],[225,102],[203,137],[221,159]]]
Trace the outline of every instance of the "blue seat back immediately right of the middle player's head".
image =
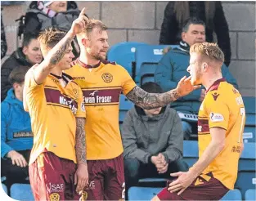
[[116,61],[118,65],[122,65],[132,77],[132,66],[135,73],[135,51],[140,45],[146,45],[146,43],[119,42],[110,47],[109,51],[107,52],[107,60]]

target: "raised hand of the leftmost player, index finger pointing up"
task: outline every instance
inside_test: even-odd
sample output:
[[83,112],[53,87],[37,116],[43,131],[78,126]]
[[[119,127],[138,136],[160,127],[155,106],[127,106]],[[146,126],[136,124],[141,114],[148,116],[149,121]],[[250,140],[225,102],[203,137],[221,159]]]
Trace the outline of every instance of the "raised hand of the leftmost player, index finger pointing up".
[[85,16],[86,8],[80,12],[79,17],[73,21],[70,31],[74,34],[81,33],[85,26],[88,24],[88,17]]

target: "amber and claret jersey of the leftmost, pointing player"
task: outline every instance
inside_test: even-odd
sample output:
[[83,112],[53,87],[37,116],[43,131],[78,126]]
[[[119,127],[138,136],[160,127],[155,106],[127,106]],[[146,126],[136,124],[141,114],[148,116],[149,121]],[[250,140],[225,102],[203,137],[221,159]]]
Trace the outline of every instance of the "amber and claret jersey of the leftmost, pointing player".
[[49,74],[38,85],[34,81],[33,68],[25,76],[25,109],[29,111],[34,133],[29,164],[45,150],[76,163],[75,118],[86,117],[83,94],[72,77],[62,76],[68,82],[65,87],[54,74]]

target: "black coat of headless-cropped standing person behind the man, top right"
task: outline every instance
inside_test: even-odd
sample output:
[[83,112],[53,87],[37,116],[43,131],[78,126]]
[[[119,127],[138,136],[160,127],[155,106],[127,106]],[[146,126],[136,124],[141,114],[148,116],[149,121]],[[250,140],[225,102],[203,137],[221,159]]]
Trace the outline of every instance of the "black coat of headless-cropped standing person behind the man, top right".
[[[189,2],[191,17],[200,18],[205,23],[204,2]],[[205,23],[206,24],[206,23]],[[178,44],[181,40],[181,30],[174,13],[174,2],[168,2],[164,10],[164,21],[161,27],[159,38],[160,44]],[[224,16],[221,2],[215,2],[215,14],[213,25],[206,24],[206,41],[213,42],[213,31],[218,38],[218,46],[225,55],[225,65],[229,65],[231,60],[231,44],[227,20]]]

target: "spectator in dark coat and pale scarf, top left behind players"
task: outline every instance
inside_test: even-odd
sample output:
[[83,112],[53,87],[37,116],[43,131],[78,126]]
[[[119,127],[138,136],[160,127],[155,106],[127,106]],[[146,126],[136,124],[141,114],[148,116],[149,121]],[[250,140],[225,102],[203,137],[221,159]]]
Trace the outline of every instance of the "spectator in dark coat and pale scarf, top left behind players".
[[[22,33],[40,32],[50,27],[68,32],[72,22],[79,17],[79,8],[74,1],[33,1],[25,14],[20,18],[18,35]],[[22,22],[25,24],[22,24]],[[75,58],[79,56],[79,45],[72,42]]]

